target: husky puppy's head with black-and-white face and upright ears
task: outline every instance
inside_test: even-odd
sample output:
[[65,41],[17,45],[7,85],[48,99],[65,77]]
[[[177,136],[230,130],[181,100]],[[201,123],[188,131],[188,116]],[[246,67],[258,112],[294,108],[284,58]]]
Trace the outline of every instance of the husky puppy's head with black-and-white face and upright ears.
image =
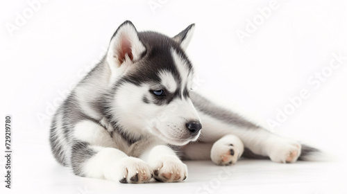
[[202,128],[189,91],[194,69],[185,54],[194,24],[175,37],[138,33],[130,21],[112,36],[105,62],[110,69],[112,117],[130,134],[154,134],[184,145]]

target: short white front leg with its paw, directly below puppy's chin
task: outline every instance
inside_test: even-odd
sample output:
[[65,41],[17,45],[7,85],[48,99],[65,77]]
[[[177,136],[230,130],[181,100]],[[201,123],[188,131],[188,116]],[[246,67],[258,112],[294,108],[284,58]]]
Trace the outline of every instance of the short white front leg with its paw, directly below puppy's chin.
[[167,145],[156,145],[140,158],[148,162],[154,178],[160,182],[182,182],[187,178],[187,165]]

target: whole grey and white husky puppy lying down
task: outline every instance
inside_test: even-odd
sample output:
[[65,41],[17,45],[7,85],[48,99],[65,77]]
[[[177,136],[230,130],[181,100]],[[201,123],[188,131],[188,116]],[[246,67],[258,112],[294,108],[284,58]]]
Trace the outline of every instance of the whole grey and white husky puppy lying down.
[[57,161],[82,177],[182,182],[187,166],[178,155],[231,165],[241,156],[293,163],[317,151],[191,91],[194,67],[185,49],[193,31],[194,24],[167,37],[121,24],[103,60],[53,117]]

